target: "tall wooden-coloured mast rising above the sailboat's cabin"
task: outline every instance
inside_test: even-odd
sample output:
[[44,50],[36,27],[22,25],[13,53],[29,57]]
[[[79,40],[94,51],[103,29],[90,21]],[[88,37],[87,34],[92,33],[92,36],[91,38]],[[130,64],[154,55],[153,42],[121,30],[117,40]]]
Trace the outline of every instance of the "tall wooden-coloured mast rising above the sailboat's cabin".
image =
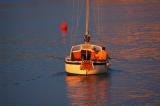
[[89,0],[86,0],[86,32],[84,35],[85,43],[89,43],[90,35],[89,35]]

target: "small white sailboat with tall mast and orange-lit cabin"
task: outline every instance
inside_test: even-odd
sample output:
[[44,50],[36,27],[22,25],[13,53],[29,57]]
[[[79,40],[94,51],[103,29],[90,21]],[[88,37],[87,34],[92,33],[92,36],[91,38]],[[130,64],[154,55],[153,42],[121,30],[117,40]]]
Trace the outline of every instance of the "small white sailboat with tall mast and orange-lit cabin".
[[73,45],[69,56],[65,57],[65,71],[67,74],[92,75],[102,74],[108,71],[109,58],[97,58],[98,52],[102,52],[102,46],[90,44],[89,34],[89,0],[86,0],[86,32],[84,43]]

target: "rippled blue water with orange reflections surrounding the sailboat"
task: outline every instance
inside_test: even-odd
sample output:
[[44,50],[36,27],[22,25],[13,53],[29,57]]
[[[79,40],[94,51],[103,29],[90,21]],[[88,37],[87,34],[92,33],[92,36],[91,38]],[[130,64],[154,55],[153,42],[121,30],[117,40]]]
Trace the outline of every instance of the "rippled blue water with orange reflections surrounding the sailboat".
[[1,106],[160,105],[160,1],[90,1],[91,42],[113,59],[87,77],[67,76],[61,59],[83,42],[84,0],[0,1]]

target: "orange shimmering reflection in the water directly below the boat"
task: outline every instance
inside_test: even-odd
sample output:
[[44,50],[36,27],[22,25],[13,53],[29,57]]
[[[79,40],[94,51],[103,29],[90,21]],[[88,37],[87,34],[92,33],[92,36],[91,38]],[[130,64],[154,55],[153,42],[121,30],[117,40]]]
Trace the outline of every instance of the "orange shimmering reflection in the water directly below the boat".
[[71,106],[108,104],[109,75],[66,76],[65,80]]

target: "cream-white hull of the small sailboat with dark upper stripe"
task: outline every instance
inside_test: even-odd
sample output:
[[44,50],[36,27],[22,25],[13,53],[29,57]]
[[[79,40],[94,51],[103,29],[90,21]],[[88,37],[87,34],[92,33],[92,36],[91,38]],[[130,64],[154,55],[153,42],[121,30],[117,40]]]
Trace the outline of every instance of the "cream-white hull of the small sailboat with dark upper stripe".
[[92,75],[106,73],[109,67],[107,62],[93,62],[93,69],[84,70],[81,69],[81,62],[65,62],[65,71],[68,74],[79,74],[79,75]]

